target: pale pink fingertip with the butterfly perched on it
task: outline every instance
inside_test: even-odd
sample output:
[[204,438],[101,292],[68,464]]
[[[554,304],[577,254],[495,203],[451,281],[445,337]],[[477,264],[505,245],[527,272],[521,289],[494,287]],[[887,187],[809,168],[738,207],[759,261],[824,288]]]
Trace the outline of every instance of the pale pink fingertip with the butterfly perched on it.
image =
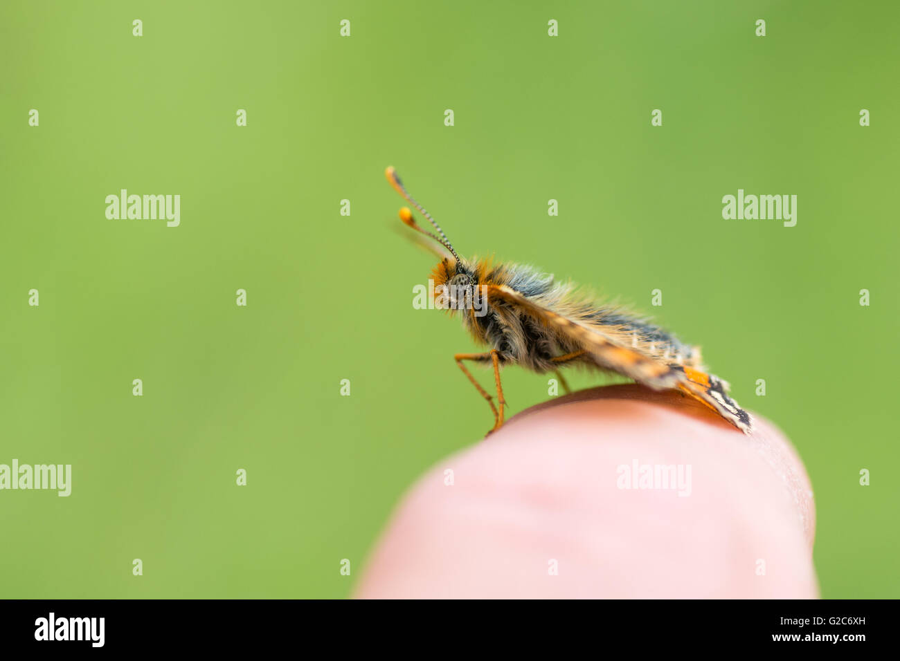
[[[806,469],[773,424],[755,424],[747,436],[637,385],[529,408],[419,479],[355,596],[815,598]],[[689,496],[617,487],[634,460],[690,465]]]

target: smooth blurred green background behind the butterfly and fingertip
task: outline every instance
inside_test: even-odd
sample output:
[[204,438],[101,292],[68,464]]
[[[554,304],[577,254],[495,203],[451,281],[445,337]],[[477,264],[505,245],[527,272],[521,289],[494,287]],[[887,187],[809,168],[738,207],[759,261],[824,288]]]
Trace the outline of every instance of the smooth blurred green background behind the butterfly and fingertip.
[[[412,308],[434,260],[385,165],[462,254],[702,344],[806,461],[822,594],[900,596],[896,4],[323,5],[2,4],[0,463],[74,484],[0,492],[0,596],[350,594],[491,425],[469,337]],[[180,194],[181,226],[106,219],[121,188]],[[722,219],[738,188],[797,194],[797,227]],[[512,413],[547,397],[504,382]]]

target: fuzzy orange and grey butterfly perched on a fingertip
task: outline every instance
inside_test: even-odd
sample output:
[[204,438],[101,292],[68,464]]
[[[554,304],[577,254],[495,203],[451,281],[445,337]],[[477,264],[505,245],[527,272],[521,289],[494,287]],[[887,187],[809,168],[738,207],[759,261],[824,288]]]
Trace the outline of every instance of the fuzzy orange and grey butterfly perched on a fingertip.
[[[643,317],[580,294],[572,282],[521,264],[494,264],[491,259],[465,260],[457,255],[435,219],[407,192],[393,167],[385,170],[392,187],[419,210],[437,234],[419,227],[404,207],[401,220],[430,237],[428,244],[441,261],[431,272],[436,307],[461,313],[463,324],[490,351],[456,353],[454,359],[468,380],[491,406],[496,431],[503,424],[506,400],[500,366],[518,364],[527,370],[554,371],[581,364],[609,371],[654,389],[677,389],[721,415],[744,433],[752,432],[752,418],[728,395],[728,384],[703,366],[698,346]],[[440,246],[440,247],[438,247]],[[490,362],[497,403],[474,379],[464,362]]]

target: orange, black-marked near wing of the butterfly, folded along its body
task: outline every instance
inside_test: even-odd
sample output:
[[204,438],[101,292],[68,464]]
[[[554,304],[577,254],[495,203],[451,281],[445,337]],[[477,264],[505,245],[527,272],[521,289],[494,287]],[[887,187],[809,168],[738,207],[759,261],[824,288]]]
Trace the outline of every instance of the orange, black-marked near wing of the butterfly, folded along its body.
[[[604,329],[602,324],[542,305],[507,285],[482,285],[482,290],[489,303],[491,299],[506,301],[529,317],[554,327],[558,333],[579,344],[599,367],[616,371],[654,390],[680,389],[744,433],[751,432],[750,415],[728,396],[725,381],[697,369],[700,367],[699,353],[695,350],[684,364],[681,354],[677,353],[680,344],[670,336],[660,335],[659,343],[648,343],[646,338],[638,342],[621,323],[623,317],[617,317],[619,323],[608,324]],[[670,355],[672,347],[677,353],[674,359]]]

